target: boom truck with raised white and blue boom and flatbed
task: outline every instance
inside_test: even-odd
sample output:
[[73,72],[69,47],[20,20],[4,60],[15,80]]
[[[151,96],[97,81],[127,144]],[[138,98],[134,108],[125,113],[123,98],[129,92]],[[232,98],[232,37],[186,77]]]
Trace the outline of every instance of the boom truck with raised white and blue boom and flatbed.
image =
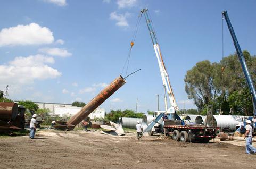
[[[181,142],[209,142],[209,140],[215,138],[215,131],[218,128],[207,127],[204,125],[187,125],[179,115],[176,113],[178,106],[174,97],[169,75],[166,70],[166,66],[163,62],[160,46],[156,39],[155,31],[153,29],[152,21],[148,15],[148,9],[142,9],[141,14],[144,14],[148,30],[150,31],[150,37],[155,50],[155,55],[158,60],[158,65],[162,77],[164,87],[164,106],[165,111],[156,111],[155,119],[144,129],[143,133],[149,132],[151,135],[153,132],[164,133],[172,136],[175,141]],[[170,107],[168,108],[167,96],[169,97]],[[163,115],[167,114],[168,119],[162,119]]]

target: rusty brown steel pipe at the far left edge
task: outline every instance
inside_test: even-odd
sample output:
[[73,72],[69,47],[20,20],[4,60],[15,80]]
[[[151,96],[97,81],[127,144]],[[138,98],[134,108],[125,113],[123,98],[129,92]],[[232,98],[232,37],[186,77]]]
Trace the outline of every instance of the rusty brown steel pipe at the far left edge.
[[18,104],[13,102],[0,103],[0,120],[15,120],[18,114]]

